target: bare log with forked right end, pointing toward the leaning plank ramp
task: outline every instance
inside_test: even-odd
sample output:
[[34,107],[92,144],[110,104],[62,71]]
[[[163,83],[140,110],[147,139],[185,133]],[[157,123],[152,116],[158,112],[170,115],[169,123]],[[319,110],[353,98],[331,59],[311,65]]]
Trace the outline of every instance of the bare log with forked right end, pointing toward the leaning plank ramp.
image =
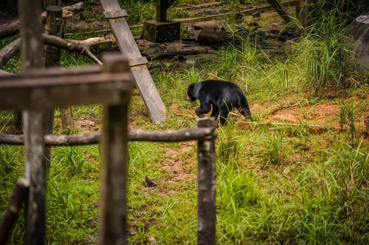
[[[101,45],[103,43],[113,42],[113,40],[105,38],[88,38],[82,41],[70,40],[47,34],[42,34],[42,39],[45,45],[59,47],[61,49],[65,49],[71,52],[85,53],[99,65],[102,65],[101,61],[91,53],[90,48],[96,45]],[[9,43],[3,49],[0,50],[0,68],[3,67],[3,65],[5,65],[8,62],[8,60],[14,57],[15,54],[19,53],[20,43],[21,39],[18,38],[17,40],[14,40],[13,42]]]

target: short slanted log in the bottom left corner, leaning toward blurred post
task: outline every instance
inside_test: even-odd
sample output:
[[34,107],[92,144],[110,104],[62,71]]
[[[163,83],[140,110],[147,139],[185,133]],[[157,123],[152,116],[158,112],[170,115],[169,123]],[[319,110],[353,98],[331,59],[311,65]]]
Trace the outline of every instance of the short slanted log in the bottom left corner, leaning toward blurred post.
[[0,224],[0,245],[7,244],[11,235],[11,230],[13,229],[15,221],[17,221],[18,212],[21,209],[23,201],[27,199],[29,187],[30,182],[27,179],[19,179],[15,184],[8,209],[6,210]]

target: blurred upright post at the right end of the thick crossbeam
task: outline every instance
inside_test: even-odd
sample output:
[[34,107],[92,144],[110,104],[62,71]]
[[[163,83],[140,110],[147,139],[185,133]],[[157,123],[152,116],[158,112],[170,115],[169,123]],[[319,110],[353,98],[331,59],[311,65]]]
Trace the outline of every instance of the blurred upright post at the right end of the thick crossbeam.
[[[103,71],[128,71],[121,54],[103,60]],[[127,104],[129,95],[103,110],[103,160],[101,166],[100,244],[126,244],[127,209]]]

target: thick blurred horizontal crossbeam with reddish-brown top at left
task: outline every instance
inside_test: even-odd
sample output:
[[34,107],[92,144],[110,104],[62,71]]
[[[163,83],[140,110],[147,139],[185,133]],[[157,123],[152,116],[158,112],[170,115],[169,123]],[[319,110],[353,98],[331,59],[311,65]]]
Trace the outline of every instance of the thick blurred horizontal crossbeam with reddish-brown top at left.
[[0,110],[117,104],[121,101],[121,91],[130,87],[122,81],[131,81],[127,72],[5,80],[10,77],[15,76],[0,77]]

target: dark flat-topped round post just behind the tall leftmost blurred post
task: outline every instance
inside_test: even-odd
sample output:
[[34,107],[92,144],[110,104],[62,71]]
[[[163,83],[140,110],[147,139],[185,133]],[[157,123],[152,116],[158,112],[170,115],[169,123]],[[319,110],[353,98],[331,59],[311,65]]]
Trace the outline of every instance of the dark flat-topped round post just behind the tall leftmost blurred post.
[[[51,3],[50,0],[45,0],[46,4]],[[56,3],[56,0],[52,1]],[[45,7],[45,6],[44,6]],[[59,6],[47,6],[46,7],[46,19],[45,19],[45,34],[62,36],[62,24],[63,24],[63,10]],[[44,62],[45,67],[60,67],[60,48],[45,45],[44,47]],[[52,134],[54,129],[54,113],[55,109],[45,111],[45,131],[46,134]],[[45,148],[45,158],[47,170],[51,167],[51,147]]]

